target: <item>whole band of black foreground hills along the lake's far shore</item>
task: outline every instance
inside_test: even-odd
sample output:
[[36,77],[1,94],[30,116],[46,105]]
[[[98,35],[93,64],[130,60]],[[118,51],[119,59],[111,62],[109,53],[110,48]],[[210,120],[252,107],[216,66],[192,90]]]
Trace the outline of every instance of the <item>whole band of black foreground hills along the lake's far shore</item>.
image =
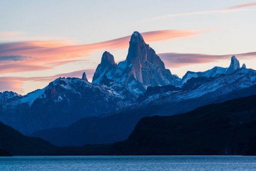
[[54,146],[0,122],[0,156],[256,155],[256,95],[209,104],[175,116],[145,117],[113,144]]

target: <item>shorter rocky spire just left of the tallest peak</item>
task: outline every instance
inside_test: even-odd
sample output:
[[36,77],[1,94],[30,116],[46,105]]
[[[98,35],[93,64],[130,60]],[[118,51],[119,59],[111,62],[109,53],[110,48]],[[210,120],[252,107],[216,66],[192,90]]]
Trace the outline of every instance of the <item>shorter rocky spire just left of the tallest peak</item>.
[[96,71],[93,75],[93,83],[99,83],[99,80],[102,76],[106,75],[109,71],[116,69],[116,63],[114,56],[105,51],[102,55],[102,59]]

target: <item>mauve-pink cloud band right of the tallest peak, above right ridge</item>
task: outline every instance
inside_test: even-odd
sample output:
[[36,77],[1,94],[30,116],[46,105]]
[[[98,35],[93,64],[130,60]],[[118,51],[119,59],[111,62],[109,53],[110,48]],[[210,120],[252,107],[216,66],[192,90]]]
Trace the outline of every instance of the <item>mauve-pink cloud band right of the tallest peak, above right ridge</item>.
[[158,55],[168,68],[183,67],[188,64],[217,62],[218,60],[229,59],[232,55],[236,55],[239,59],[256,58],[256,52],[230,55],[207,55],[197,53],[160,53]]

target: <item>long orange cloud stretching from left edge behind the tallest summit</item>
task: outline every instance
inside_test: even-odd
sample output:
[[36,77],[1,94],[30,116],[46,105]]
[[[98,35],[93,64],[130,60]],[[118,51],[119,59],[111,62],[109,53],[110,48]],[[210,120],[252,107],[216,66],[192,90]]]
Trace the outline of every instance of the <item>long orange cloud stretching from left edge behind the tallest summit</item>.
[[[189,31],[189,30],[162,30],[162,31],[150,31],[142,33],[145,42],[157,42],[168,39],[177,39],[180,37],[193,36],[196,34],[204,33],[205,31]],[[15,42],[0,44],[0,58],[1,56],[32,56],[33,59],[24,61],[16,61],[17,65],[25,65],[28,71],[28,66],[31,65],[31,71],[49,69],[49,67],[34,66],[44,65],[49,63],[58,64],[68,63],[70,59],[78,59],[85,56],[90,56],[91,53],[97,50],[109,50],[109,49],[122,49],[128,48],[129,40],[131,36],[125,36],[118,39],[113,39],[105,42],[98,42],[88,45],[72,45],[67,41],[34,41],[34,42]],[[1,70],[1,73],[8,73],[10,69],[6,65]],[[6,71],[4,71],[4,68]],[[17,67],[16,67],[17,68]],[[20,70],[24,71],[24,70]]]

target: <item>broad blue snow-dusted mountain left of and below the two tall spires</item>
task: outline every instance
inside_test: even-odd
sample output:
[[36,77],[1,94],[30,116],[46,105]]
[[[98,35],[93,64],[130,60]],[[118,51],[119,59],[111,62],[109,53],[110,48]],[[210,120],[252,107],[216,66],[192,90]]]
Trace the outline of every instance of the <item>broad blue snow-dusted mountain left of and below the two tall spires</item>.
[[68,126],[83,117],[99,116],[136,101],[124,84],[110,79],[100,84],[80,78],[57,78],[44,89],[0,101],[0,121],[23,133]]

